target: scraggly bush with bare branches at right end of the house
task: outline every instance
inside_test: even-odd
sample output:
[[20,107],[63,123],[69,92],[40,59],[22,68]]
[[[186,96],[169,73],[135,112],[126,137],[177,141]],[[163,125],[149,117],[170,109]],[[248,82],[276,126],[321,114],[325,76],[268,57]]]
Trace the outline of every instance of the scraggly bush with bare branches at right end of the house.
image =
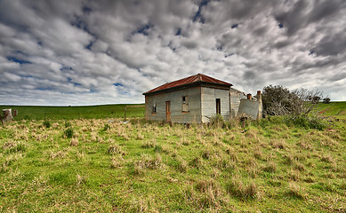
[[307,116],[320,99],[321,91],[304,88],[289,91],[281,85],[270,85],[262,91],[263,112],[268,115]]

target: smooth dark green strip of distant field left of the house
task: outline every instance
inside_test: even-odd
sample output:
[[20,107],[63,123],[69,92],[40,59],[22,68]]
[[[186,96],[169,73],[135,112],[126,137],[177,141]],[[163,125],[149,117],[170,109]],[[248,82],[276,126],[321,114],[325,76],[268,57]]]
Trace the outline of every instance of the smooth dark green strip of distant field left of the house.
[[144,117],[144,104],[139,105],[102,105],[102,106],[0,106],[0,109],[18,110],[15,120],[73,120]]

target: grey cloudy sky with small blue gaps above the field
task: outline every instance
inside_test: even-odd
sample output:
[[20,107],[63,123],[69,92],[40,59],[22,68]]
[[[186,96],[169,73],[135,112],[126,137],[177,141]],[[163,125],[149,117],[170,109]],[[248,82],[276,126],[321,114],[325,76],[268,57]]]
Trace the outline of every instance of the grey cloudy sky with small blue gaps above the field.
[[142,103],[197,73],[346,100],[346,1],[0,0],[0,104]]

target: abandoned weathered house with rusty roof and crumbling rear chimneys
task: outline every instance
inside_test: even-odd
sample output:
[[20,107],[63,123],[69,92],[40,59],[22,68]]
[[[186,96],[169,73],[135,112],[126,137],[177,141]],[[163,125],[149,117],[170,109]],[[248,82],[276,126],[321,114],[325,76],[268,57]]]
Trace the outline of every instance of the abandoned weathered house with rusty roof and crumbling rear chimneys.
[[149,121],[209,122],[221,114],[224,119],[245,115],[262,117],[261,91],[256,99],[213,77],[197,74],[144,92],[145,117]]

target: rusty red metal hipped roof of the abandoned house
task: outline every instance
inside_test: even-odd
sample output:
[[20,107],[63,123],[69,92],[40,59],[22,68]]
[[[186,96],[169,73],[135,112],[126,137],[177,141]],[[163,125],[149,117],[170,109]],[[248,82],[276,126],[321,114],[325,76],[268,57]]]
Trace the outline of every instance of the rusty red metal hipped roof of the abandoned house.
[[171,83],[165,83],[161,86],[158,86],[155,89],[152,89],[151,91],[144,92],[143,94],[149,94],[151,92],[155,91],[164,91],[167,89],[175,88],[175,87],[181,87],[183,85],[187,85],[190,83],[213,83],[213,84],[221,84],[221,85],[226,85],[226,86],[232,86],[231,83],[226,83],[221,80],[215,79],[213,77],[203,75],[203,74],[197,74],[197,75],[192,75],[186,78],[183,78],[181,80],[177,80]]

